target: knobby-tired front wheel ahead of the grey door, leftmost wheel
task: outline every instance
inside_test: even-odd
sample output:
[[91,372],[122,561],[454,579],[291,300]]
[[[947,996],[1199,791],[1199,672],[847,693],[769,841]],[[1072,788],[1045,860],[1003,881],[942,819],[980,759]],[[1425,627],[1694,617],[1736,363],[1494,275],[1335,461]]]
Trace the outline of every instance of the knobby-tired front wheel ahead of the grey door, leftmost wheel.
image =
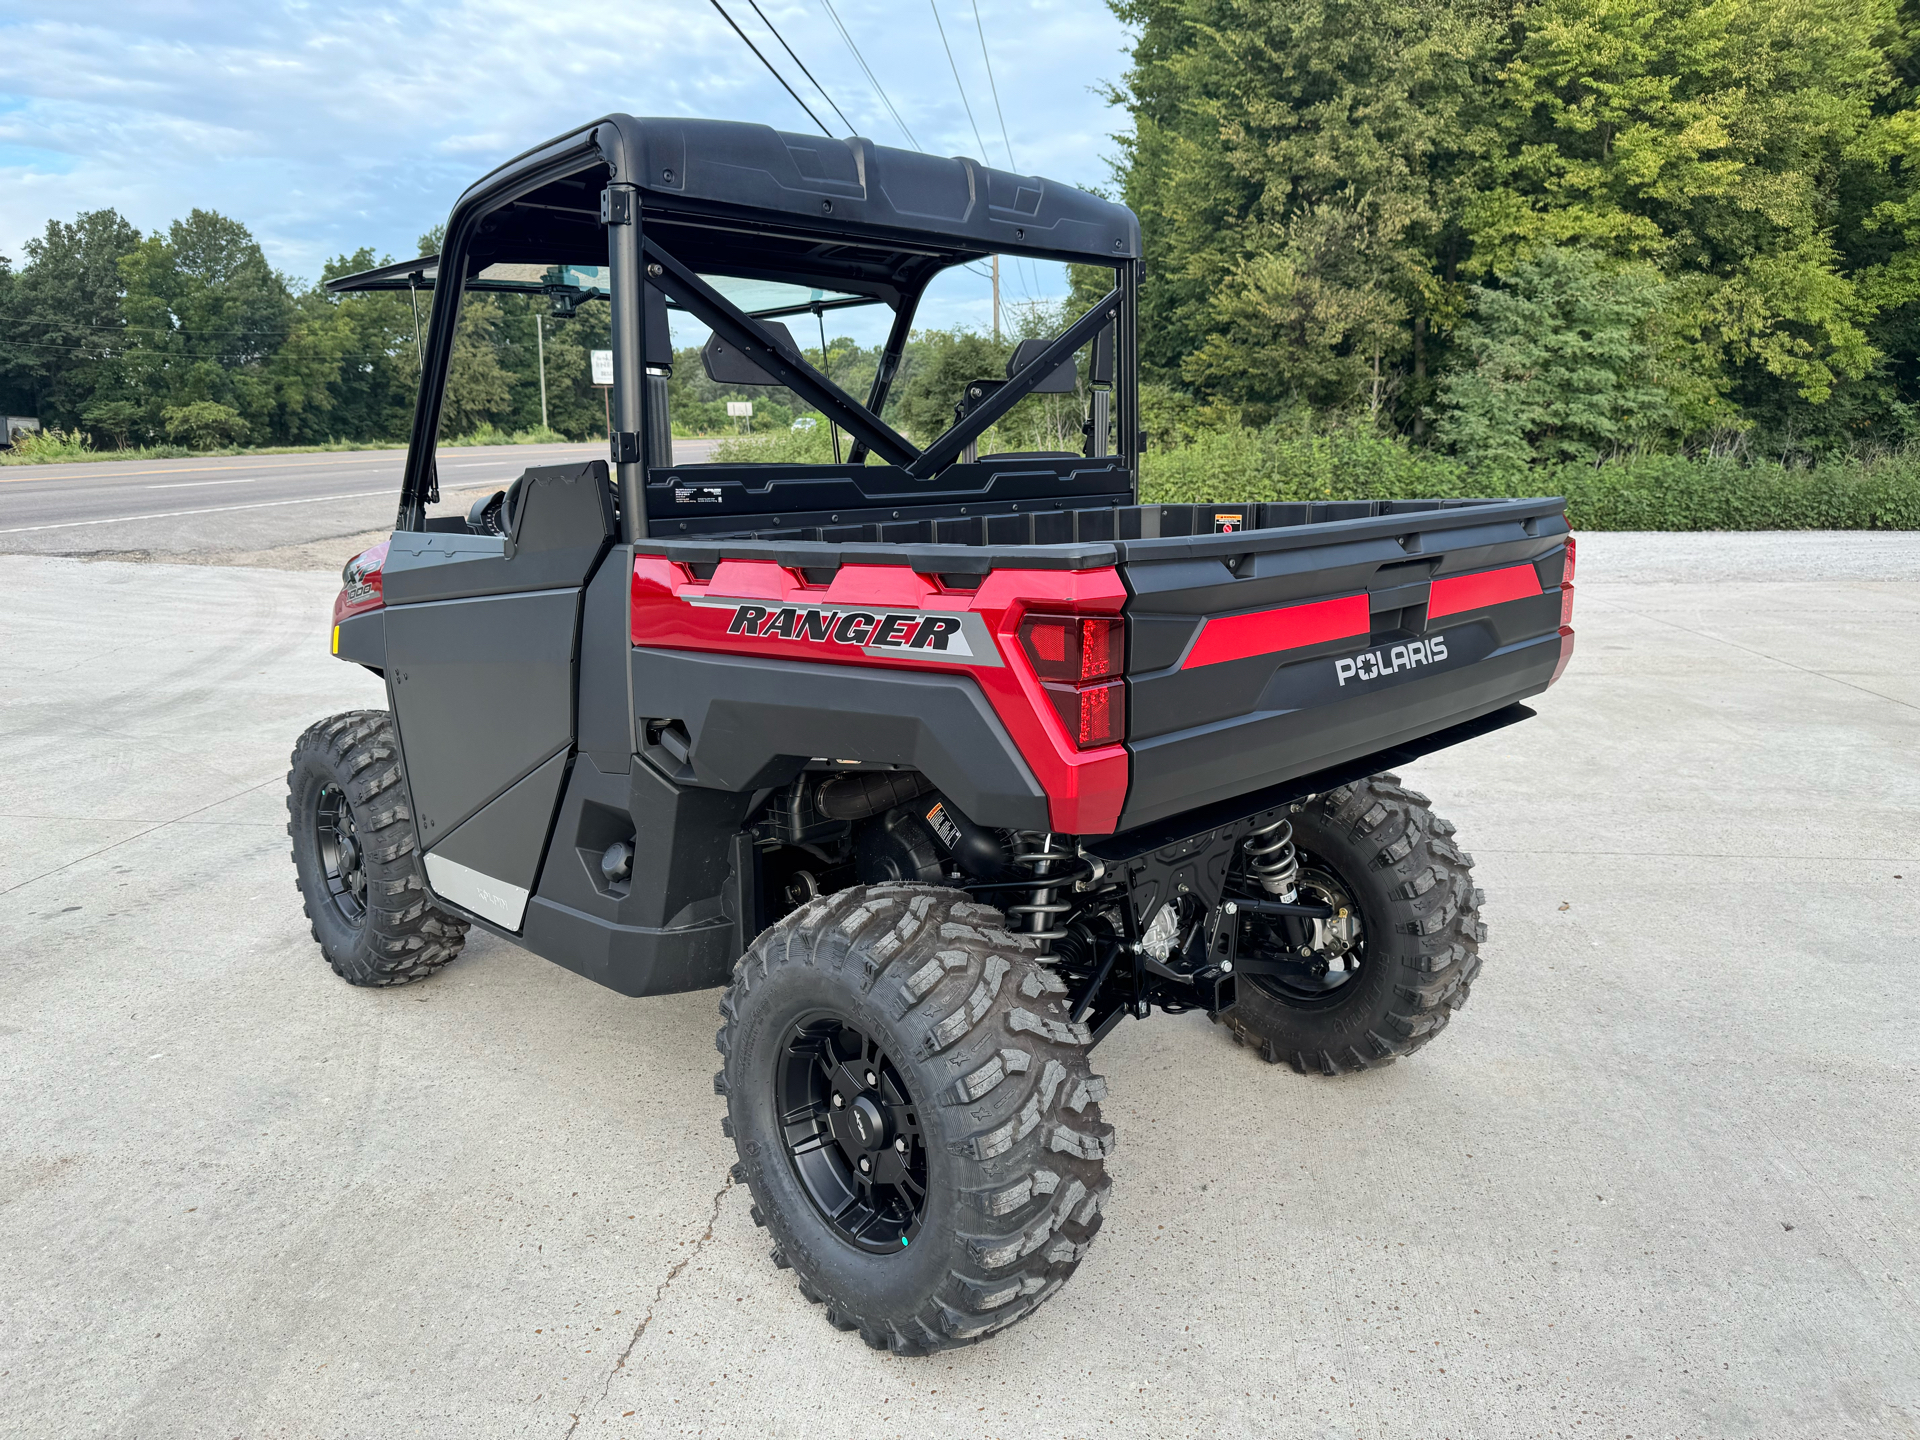
[[294,884],[334,974],[401,986],[459,955],[467,922],[426,899],[386,711],[307,726],[286,772],[286,811]]

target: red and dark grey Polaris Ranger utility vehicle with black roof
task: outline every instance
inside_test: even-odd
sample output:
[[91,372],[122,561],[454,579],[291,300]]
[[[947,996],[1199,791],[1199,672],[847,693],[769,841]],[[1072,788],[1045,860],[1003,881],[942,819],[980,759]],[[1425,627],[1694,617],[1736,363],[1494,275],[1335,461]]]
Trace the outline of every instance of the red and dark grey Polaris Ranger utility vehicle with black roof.
[[[928,284],[999,254],[1108,294],[914,444]],[[313,936],[357,986],[480,926],[622,995],[720,991],[715,1089],[774,1262],[874,1347],[978,1339],[1101,1226],[1089,1053],[1204,1011],[1333,1076],[1468,999],[1481,893],[1395,765],[1531,715],[1568,665],[1558,500],[1139,503],[1135,217],[970,159],[611,115],[501,165],[438,257],[394,536],[332,649],[386,711],[288,776]],[[607,298],[611,457],[442,513],[459,296]],[[780,317],[891,309],[866,398]],[[676,465],[669,309],[836,465]],[[1074,392],[1074,452],[976,453]],[[1072,402],[1060,402],[1072,403]]]

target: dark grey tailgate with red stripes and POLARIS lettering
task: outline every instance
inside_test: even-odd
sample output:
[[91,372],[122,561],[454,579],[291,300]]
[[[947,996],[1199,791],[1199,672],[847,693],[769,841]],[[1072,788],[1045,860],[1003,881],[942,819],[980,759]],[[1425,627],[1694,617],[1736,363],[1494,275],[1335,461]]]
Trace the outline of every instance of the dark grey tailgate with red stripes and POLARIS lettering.
[[1560,500],[1389,509],[1120,544],[1120,828],[1416,740],[1560,674]]

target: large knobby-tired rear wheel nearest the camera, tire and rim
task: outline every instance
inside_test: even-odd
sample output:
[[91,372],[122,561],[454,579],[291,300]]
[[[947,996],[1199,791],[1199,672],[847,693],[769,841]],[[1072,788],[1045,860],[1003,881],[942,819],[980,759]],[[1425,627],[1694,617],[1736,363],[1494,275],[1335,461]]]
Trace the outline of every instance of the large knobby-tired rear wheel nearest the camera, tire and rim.
[[1033,947],[959,891],[855,886],[768,928],[720,1001],[753,1220],[870,1347],[1020,1320],[1101,1228],[1106,1087]]

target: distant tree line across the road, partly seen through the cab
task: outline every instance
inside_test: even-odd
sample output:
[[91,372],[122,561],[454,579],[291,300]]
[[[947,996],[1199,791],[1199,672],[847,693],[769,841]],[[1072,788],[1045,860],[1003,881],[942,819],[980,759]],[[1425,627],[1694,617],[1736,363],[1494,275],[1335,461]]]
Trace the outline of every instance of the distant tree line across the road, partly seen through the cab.
[[[434,254],[438,229],[419,246]],[[17,271],[0,257],[0,413],[85,432],[108,450],[403,442],[432,292],[325,288],[386,259],[371,250],[338,256],[307,284],[275,271],[248,229],[215,211],[196,209],[154,234],[113,209],[50,221],[25,244]],[[442,434],[605,434],[607,398],[592,384],[588,352],[613,344],[609,319],[605,302],[561,319],[544,296],[465,296]],[[1064,323],[1062,309],[1047,304],[1018,307],[1012,321],[1003,338],[916,332],[888,419],[920,438],[939,434],[966,380],[1001,375],[1016,340]],[[853,396],[866,394],[880,363],[878,346],[847,336],[801,350]],[[811,413],[786,388],[707,379],[692,346],[674,355],[669,400],[682,434],[786,430]],[[751,421],[730,417],[730,400],[751,400]],[[1070,398],[1035,398],[1001,432],[1037,448],[1078,446],[1080,411]]]

